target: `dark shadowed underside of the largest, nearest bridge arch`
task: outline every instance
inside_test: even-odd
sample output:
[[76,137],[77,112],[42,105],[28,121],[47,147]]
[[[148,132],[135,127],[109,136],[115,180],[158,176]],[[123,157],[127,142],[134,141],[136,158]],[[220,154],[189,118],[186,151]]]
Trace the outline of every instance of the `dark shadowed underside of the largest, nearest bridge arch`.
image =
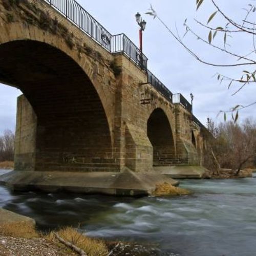
[[112,140],[102,102],[65,52],[34,40],[2,44],[0,81],[22,91],[36,115],[34,166],[26,167],[26,156],[20,155],[16,169],[86,171],[102,167],[102,159],[110,162]]

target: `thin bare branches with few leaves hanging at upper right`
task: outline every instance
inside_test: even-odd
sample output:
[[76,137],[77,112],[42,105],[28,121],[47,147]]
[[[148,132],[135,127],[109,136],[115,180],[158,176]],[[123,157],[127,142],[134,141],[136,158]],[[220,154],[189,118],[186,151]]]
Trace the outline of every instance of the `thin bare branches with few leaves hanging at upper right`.
[[[230,89],[234,85],[238,86],[238,88],[235,90],[233,95],[236,95],[239,93],[245,86],[251,83],[256,82],[256,43],[255,43],[255,35],[256,35],[256,23],[253,22],[252,15],[256,13],[256,7],[253,4],[249,4],[247,8],[243,8],[245,10],[246,14],[244,18],[240,21],[236,21],[233,18],[229,17],[217,4],[216,0],[197,0],[196,1],[196,10],[198,11],[200,7],[203,5],[204,2],[208,1],[212,4],[212,8],[214,8],[214,12],[212,12],[206,23],[200,22],[197,19],[194,19],[196,24],[201,26],[204,30],[206,30],[206,38],[203,38],[203,36],[200,36],[193,27],[191,27],[187,19],[185,19],[184,27],[185,27],[185,33],[184,36],[181,38],[181,36],[178,33],[177,27],[176,32],[174,32],[170,27],[164,23],[162,18],[157,14],[157,12],[153,9],[153,7],[150,7],[150,10],[146,12],[146,14],[153,16],[154,19],[158,19],[159,22],[167,29],[167,31],[179,42],[180,45],[183,46],[183,48],[194,58],[196,58],[198,61],[204,63],[205,65],[209,66],[215,66],[215,67],[241,67],[243,68],[242,74],[239,78],[235,77],[229,77],[222,73],[217,73],[215,76],[217,77],[217,80],[222,82],[227,82],[227,89]],[[216,19],[217,17],[222,18],[224,26],[222,24],[218,26],[211,26],[212,21]],[[219,19],[218,19],[219,21]],[[210,48],[214,48],[217,51],[220,51],[221,53],[225,55],[229,55],[232,58],[234,58],[233,62],[231,63],[215,63],[210,62],[209,60],[204,59],[200,56],[200,53],[197,53],[193,51],[187,44],[184,42],[184,37],[190,33],[195,37],[195,39],[200,40],[204,44],[206,44]],[[223,36],[223,45],[219,46],[218,44],[214,44],[214,41],[217,37],[217,34],[222,34]],[[233,35],[236,36],[243,36],[243,38],[251,37],[252,40],[252,49],[250,49],[246,54],[241,54],[237,52],[233,52],[231,50],[231,45],[228,43],[228,38],[232,37]],[[245,68],[248,67],[248,68]],[[250,106],[256,104],[255,102],[251,102],[246,105],[237,105],[229,110],[220,111],[220,113],[224,114],[224,119],[226,120],[227,113],[231,113],[232,119],[236,122],[238,120],[239,111],[244,110],[246,108],[249,108]]]

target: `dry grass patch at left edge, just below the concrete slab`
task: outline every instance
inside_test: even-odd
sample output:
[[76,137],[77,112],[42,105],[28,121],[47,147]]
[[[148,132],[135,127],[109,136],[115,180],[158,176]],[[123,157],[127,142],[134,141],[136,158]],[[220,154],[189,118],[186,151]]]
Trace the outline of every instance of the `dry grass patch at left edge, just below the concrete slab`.
[[0,234],[15,238],[39,238],[40,234],[35,230],[33,224],[7,223],[0,226]]

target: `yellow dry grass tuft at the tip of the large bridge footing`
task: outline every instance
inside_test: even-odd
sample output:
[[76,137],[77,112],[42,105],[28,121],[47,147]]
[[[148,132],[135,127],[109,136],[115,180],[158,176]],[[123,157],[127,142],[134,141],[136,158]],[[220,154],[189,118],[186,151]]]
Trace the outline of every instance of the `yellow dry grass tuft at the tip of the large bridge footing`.
[[189,195],[191,194],[191,191],[180,188],[180,187],[175,187],[167,182],[157,184],[156,189],[153,192],[153,196],[181,196],[181,195]]

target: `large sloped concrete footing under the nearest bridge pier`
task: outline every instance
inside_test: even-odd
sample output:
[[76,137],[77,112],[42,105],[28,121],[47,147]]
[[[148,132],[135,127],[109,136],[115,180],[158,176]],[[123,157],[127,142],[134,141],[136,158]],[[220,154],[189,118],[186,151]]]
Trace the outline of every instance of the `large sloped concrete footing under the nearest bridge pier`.
[[160,183],[179,182],[156,172],[135,173],[129,169],[116,172],[29,172],[12,171],[0,176],[0,184],[19,191],[42,190],[48,193],[67,191],[116,196],[151,195]]

